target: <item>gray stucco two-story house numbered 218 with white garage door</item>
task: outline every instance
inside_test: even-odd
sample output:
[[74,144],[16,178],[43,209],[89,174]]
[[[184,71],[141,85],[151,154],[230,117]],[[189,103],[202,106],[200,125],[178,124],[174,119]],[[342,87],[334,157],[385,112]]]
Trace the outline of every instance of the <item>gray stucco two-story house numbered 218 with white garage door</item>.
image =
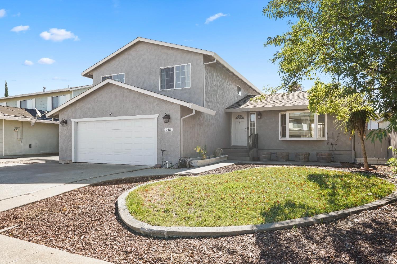
[[[155,165],[161,150],[175,163],[199,156],[197,145],[249,159],[252,133],[259,150],[315,159],[334,131],[330,117],[308,112],[304,92],[251,104],[261,91],[212,51],[139,37],[82,75],[94,86],[49,113],[67,122],[61,163]],[[339,141],[335,159],[351,161],[349,139]]]

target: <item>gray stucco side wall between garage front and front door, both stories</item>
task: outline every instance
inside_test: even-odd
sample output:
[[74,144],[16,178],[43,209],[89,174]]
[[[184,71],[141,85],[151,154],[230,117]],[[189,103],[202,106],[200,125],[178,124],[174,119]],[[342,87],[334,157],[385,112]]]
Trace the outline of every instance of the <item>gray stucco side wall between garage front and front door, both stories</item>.
[[[237,94],[237,85],[241,87],[241,96]],[[252,94],[256,92],[252,90]],[[211,116],[196,111],[194,116],[183,121],[183,155],[198,157],[198,153],[194,150],[197,145],[207,145],[208,155],[212,155],[215,148],[229,148],[231,146],[231,115],[225,113],[225,108],[246,95],[251,95],[251,88],[228,73],[222,65],[219,63],[206,65],[205,107],[216,111],[216,114]],[[182,116],[191,112],[191,109],[182,107]]]

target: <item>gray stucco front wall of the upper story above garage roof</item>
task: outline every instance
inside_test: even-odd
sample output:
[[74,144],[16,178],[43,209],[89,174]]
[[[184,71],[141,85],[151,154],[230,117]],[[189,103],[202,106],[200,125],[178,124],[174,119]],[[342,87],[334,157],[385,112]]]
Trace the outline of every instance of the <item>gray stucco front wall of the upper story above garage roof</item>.
[[[191,63],[191,87],[160,91],[160,67]],[[101,76],[125,73],[125,83],[162,95],[202,105],[202,64],[201,53],[138,42],[119,53],[93,72],[93,84]]]

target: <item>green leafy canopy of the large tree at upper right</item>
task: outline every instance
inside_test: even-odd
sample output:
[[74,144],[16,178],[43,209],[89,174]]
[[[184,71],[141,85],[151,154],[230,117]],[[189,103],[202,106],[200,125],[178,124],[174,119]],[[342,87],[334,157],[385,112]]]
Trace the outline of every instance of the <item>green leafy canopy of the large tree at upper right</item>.
[[326,93],[359,93],[390,121],[388,131],[397,129],[397,0],[272,0],[263,13],[291,19],[264,44],[281,47],[271,61],[282,84],[270,93],[320,74],[331,80]]

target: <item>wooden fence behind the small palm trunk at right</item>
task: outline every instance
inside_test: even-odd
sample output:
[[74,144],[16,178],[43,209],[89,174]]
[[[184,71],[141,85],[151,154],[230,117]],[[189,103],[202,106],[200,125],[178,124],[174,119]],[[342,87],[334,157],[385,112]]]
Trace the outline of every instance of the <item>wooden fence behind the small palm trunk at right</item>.
[[[365,131],[366,135],[368,135],[368,133],[372,130],[367,129]],[[395,131],[393,131],[391,135],[389,135],[389,137],[382,139],[382,142],[380,142],[379,140],[375,140],[374,142],[372,142],[369,138],[365,139],[365,150],[367,152],[368,163],[384,164],[385,162],[387,162],[387,160],[393,156],[392,151],[388,148],[389,146],[393,145],[397,146],[397,133]],[[355,162],[362,163],[361,141],[357,135],[355,136],[354,150]]]

